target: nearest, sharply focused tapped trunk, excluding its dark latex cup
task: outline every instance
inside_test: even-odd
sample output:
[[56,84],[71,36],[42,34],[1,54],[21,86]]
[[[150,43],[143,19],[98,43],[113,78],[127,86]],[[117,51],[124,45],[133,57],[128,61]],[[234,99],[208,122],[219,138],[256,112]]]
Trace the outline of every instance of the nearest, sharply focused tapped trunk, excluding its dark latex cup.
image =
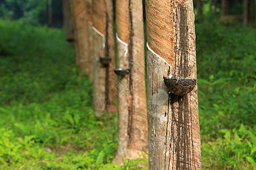
[[149,169],[201,169],[197,86],[178,96],[163,82],[196,79],[193,1],[146,0],[146,16]]

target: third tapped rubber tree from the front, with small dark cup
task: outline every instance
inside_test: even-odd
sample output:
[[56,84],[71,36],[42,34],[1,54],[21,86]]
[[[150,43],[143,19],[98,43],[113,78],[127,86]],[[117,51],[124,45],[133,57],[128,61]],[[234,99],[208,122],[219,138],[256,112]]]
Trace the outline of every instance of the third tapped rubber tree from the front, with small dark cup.
[[115,66],[112,0],[93,0],[92,19],[93,103],[96,116],[102,116],[105,111],[116,111],[117,88],[112,71]]

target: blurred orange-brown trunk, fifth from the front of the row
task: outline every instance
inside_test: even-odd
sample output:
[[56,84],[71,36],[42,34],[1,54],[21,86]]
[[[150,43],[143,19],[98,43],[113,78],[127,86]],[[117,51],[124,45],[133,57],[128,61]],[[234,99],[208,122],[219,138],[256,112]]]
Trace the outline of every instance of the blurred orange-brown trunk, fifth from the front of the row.
[[83,73],[89,74],[88,32],[86,28],[86,10],[84,0],[69,0],[71,3],[72,20],[75,36],[76,63]]

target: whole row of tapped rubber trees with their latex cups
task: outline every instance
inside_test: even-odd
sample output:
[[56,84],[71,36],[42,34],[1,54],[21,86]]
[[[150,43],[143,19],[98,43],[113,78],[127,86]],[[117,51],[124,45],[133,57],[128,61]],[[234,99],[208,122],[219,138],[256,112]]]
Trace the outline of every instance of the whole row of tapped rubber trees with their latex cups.
[[145,7],[147,97],[142,1],[63,0],[67,40],[93,82],[96,116],[118,111],[115,163],[148,156],[150,169],[201,169],[193,1]]

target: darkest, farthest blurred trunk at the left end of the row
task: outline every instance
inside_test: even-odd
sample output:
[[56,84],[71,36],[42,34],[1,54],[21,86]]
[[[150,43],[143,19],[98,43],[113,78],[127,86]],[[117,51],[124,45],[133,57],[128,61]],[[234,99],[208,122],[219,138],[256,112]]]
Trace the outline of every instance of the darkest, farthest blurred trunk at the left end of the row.
[[72,25],[72,16],[71,16],[71,6],[69,5],[69,1],[63,0],[63,20],[64,20],[64,30],[66,35],[66,40],[68,42],[74,41],[73,34],[73,25]]

